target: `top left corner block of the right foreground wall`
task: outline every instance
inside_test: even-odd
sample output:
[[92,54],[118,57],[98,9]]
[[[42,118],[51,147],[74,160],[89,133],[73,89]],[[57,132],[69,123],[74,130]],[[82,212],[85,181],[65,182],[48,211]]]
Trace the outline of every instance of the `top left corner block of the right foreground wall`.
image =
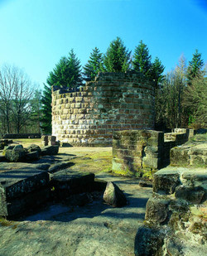
[[166,194],[173,194],[176,186],[181,184],[180,174],[176,170],[162,169],[156,171],[153,179],[153,191]]

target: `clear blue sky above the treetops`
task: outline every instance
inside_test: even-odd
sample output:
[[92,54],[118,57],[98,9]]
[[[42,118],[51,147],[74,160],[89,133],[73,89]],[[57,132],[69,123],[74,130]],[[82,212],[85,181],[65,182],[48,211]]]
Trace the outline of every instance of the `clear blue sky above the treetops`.
[[195,49],[207,63],[207,1],[0,0],[0,65],[23,68],[40,88],[71,48],[85,65],[117,36],[132,51],[142,40],[165,72]]

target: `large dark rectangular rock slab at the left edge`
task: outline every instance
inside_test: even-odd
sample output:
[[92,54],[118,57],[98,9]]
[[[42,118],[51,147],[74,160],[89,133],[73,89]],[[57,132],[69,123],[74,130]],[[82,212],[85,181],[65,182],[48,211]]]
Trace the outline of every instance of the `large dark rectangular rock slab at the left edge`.
[[[40,193],[48,185],[49,174],[46,171],[22,168],[1,172],[0,215],[18,215],[29,205],[35,205],[36,191]],[[46,200],[48,193],[42,193],[40,198],[41,201]]]

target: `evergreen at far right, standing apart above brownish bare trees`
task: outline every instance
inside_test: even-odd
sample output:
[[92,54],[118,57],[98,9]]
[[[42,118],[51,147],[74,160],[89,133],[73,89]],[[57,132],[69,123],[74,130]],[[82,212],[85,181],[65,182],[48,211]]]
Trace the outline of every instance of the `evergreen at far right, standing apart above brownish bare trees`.
[[191,85],[192,80],[194,80],[195,77],[200,77],[204,75],[204,70],[202,70],[203,66],[204,60],[201,59],[201,54],[196,49],[192,60],[189,61],[189,66],[187,69],[188,85]]

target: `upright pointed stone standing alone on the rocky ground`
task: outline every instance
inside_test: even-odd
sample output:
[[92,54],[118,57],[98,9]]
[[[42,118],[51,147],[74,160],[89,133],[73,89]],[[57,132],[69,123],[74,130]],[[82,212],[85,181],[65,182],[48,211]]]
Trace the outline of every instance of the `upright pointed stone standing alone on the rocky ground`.
[[103,200],[113,207],[122,207],[127,205],[127,198],[123,194],[123,191],[121,191],[113,182],[107,183],[106,190],[103,194]]

